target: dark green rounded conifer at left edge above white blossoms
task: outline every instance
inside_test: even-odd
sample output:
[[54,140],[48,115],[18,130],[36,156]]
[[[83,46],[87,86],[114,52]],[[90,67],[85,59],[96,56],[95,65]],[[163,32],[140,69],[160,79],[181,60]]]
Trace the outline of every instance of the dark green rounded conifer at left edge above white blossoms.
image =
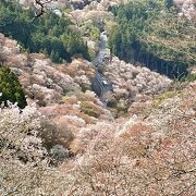
[[24,90],[16,75],[7,66],[0,64],[0,103],[3,101],[17,102],[20,108],[24,108],[27,102]]

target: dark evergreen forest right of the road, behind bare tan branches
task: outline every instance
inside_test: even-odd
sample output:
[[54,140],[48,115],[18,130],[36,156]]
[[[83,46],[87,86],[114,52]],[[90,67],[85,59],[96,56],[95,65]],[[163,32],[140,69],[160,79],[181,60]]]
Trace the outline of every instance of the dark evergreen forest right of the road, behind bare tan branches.
[[120,59],[147,65],[171,78],[196,63],[196,24],[177,16],[172,1],[138,0],[110,7],[117,25],[109,40]]

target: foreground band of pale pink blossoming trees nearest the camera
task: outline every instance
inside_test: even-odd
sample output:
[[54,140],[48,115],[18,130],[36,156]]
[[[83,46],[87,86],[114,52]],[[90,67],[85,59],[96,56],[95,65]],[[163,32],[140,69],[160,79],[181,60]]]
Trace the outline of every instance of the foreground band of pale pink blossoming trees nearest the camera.
[[82,127],[74,158],[51,168],[39,115],[0,110],[0,193],[51,195],[195,195],[195,83],[139,117]]

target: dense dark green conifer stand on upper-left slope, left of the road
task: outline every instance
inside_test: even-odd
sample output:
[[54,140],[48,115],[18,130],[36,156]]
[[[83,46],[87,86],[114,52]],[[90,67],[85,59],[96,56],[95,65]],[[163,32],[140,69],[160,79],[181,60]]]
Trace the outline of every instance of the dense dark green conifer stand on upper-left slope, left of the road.
[[74,54],[89,60],[87,45],[71,30],[71,21],[47,12],[34,19],[32,10],[23,10],[14,1],[0,2],[0,32],[16,39],[29,52],[44,52],[53,62],[70,62]]

